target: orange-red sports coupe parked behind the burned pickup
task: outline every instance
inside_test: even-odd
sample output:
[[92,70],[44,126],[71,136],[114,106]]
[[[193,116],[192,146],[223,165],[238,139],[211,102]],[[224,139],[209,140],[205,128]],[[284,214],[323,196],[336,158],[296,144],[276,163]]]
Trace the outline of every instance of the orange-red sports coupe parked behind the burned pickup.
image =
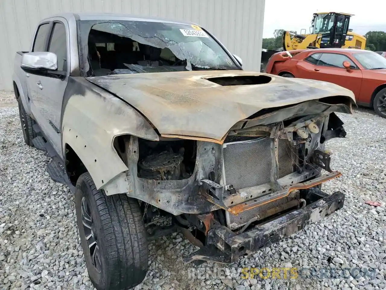
[[359,49],[300,49],[275,53],[266,73],[312,78],[352,90],[358,105],[386,118],[386,58]]

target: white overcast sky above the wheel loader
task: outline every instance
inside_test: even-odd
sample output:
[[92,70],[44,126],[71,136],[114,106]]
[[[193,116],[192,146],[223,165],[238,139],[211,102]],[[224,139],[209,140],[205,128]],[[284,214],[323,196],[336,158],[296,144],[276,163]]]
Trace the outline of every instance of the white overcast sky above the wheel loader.
[[385,0],[323,0],[284,1],[265,0],[263,38],[273,37],[275,29],[309,32],[312,14],[315,12],[343,12],[355,14],[350,28],[359,34],[367,31],[386,31]]

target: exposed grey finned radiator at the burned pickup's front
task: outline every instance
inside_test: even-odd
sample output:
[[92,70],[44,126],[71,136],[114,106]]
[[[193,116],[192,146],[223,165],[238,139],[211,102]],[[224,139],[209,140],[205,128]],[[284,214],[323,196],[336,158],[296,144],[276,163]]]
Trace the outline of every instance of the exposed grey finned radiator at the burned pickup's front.
[[[280,191],[278,179],[294,172],[297,163],[294,152],[291,142],[285,139],[227,137],[223,145],[224,184],[232,185],[234,189],[242,189],[269,183],[271,192]],[[263,210],[291,200],[282,198],[262,208],[248,210],[238,215],[227,212],[227,225],[231,229],[236,229]]]

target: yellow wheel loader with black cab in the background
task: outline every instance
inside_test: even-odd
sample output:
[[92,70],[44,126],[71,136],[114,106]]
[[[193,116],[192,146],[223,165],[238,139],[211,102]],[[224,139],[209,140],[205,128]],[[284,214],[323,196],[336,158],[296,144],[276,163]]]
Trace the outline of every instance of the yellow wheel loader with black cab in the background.
[[[290,31],[283,33],[283,49],[306,48],[357,48],[365,49],[366,38],[349,29],[353,14],[324,12],[314,13],[310,34],[302,29],[300,34]],[[312,28],[312,31],[311,31]],[[304,33],[301,33],[304,31]]]

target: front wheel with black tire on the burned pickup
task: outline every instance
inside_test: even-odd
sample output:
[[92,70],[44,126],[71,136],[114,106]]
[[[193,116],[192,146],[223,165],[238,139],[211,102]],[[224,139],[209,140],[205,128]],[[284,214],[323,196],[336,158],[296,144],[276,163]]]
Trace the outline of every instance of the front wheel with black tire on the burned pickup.
[[75,206],[88,275],[94,287],[123,290],[141,283],[148,260],[146,230],[138,201],[126,194],[107,196],[97,190],[86,172],[76,183]]

